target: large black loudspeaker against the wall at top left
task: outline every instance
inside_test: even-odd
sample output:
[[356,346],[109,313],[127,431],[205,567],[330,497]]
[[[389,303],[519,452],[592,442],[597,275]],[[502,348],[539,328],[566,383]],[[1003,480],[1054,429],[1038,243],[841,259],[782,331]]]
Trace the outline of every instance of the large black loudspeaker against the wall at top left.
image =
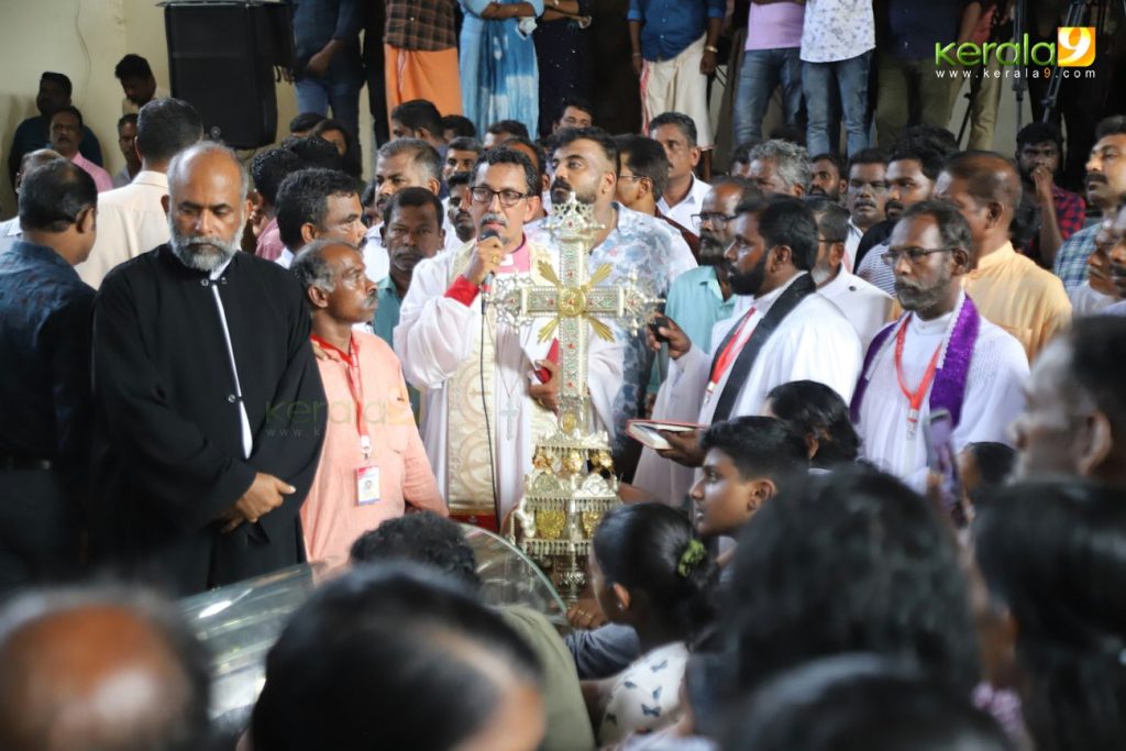
[[207,137],[234,149],[277,137],[275,66],[293,61],[286,3],[169,2],[164,6],[172,96],[191,102]]

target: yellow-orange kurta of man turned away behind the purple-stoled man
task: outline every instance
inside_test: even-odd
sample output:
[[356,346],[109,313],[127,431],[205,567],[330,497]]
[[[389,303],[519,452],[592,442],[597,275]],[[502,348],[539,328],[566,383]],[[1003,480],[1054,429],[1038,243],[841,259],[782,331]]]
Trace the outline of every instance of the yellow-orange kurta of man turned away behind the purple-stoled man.
[[1017,338],[1029,363],[1071,322],[1071,301],[1060,278],[1011,243],[980,258],[962,286],[985,320]]

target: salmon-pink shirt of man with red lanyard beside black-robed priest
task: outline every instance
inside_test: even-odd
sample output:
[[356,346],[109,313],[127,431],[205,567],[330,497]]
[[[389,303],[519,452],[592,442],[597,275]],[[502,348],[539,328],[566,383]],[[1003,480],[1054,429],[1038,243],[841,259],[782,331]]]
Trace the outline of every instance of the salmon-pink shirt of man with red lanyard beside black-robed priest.
[[352,331],[359,363],[364,421],[372,442],[369,465],[379,468],[379,500],[359,506],[356,470],[365,465],[357,427],[356,401],[348,385],[348,364],[339,350],[322,348],[318,360],[328,400],[324,447],[313,486],[301,507],[301,525],[310,561],[347,558],[352,543],[385,519],[401,517],[405,503],[447,516],[406,397],[402,367],[378,337]]

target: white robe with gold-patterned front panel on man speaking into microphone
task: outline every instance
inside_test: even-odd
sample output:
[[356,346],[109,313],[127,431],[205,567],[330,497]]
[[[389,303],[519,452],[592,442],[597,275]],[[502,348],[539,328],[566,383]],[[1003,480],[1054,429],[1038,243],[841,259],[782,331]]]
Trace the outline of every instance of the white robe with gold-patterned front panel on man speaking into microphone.
[[[422,442],[450,511],[475,513],[472,509],[488,508],[491,513],[491,438],[503,518],[524,495],[524,476],[531,471],[536,438],[555,424],[555,417],[528,396],[528,385],[535,378],[533,363],[546,359],[551,342],[537,341],[547,319],[513,328],[495,321],[493,311],[484,318],[484,347],[492,352],[491,360],[485,358],[486,368],[492,361],[486,387],[492,404],[486,426],[482,401],[489,397],[482,396],[480,367],[481,298],[466,305],[446,296],[467,265],[472,248],[473,243],[465,243],[457,252],[439,253],[414,268],[394,331],[395,354],[402,360],[406,381],[425,392]],[[538,245],[530,249],[533,259],[539,254],[557,268],[554,251]],[[506,259],[509,268],[511,260]],[[502,266],[498,276],[504,272]],[[622,387],[624,343],[602,341],[588,330],[587,357],[592,427],[610,432],[614,396]],[[472,418],[470,423],[467,415]]]

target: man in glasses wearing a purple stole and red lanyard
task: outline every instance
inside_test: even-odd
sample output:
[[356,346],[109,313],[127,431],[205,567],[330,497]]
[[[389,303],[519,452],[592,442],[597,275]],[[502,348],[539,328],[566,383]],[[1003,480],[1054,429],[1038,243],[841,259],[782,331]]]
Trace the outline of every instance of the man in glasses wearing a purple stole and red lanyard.
[[958,209],[924,200],[903,215],[882,260],[905,313],[873,340],[852,397],[864,457],[922,491],[930,414],[950,413],[955,452],[1011,444],[1024,408],[1025,350],[963,292],[973,238]]

